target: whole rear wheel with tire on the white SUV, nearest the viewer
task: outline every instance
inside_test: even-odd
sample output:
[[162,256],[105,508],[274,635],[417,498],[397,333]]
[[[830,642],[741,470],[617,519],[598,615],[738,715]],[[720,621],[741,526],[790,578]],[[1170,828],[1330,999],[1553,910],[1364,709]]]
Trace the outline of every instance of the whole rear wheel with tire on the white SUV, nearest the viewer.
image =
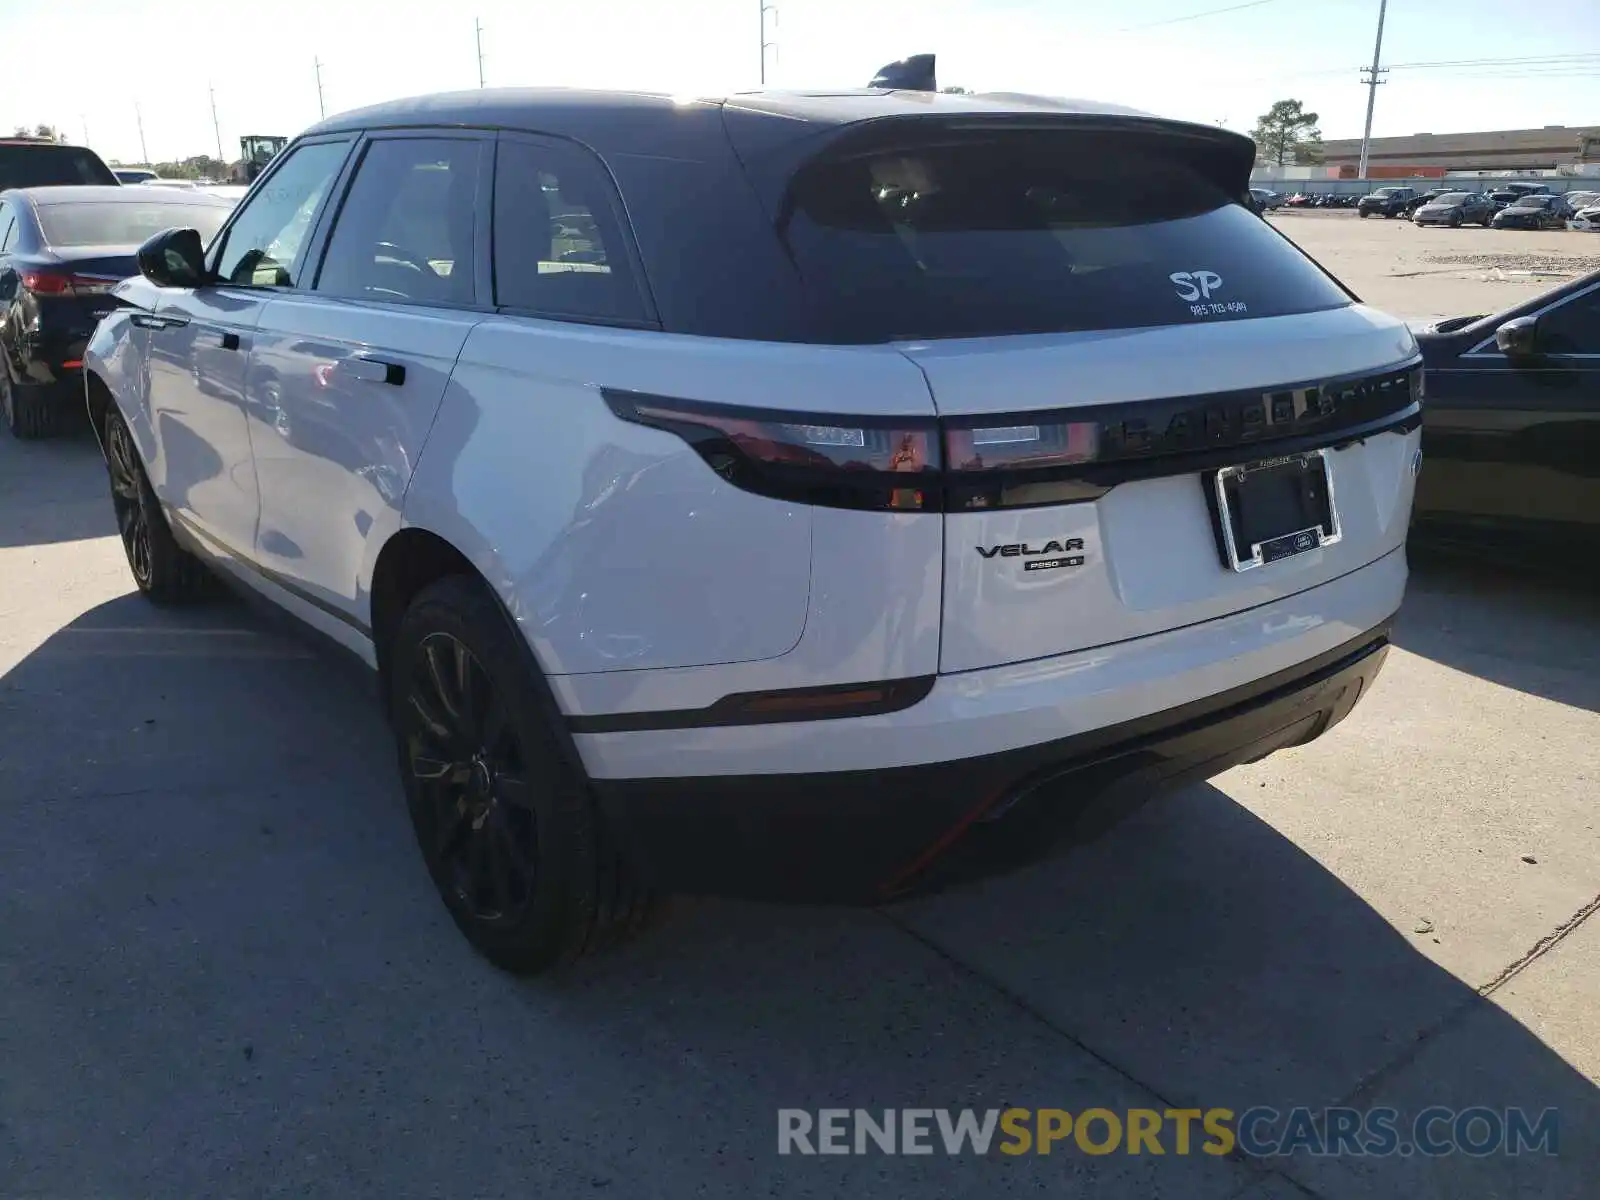
[[558,741],[533,670],[499,603],[467,576],[411,602],[387,670],[422,861],[456,928],[517,974],[605,949],[654,907]]

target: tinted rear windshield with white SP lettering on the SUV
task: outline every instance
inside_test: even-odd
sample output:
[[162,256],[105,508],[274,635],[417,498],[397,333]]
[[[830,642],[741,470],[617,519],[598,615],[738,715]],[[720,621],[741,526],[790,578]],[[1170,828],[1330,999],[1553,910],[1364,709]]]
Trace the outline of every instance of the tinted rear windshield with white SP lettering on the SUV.
[[1189,325],[1350,302],[1152,139],[1018,134],[826,162],[781,222],[851,341]]

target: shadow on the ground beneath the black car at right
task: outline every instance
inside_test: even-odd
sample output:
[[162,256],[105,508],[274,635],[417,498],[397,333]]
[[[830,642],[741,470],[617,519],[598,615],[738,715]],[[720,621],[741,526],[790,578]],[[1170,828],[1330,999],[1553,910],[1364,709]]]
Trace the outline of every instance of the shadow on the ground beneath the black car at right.
[[1394,642],[1414,654],[1600,712],[1600,590],[1413,552]]

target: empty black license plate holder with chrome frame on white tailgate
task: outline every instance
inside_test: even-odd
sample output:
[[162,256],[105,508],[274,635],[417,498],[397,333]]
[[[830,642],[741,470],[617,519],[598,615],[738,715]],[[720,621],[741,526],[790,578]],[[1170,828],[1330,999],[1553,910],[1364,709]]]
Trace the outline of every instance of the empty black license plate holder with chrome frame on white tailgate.
[[1222,467],[1213,496],[1218,541],[1232,571],[1253,571],[1341,538],[1326,450]]

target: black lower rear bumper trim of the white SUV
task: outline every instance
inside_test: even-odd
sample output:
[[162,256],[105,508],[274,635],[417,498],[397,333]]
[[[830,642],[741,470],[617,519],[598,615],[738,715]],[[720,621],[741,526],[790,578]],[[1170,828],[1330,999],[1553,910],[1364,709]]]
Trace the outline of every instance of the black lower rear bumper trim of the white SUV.
[[978,758],[594,789],[664,890],[877,902],[1082,842],[1150,795],[1309,742],[1355,707],[1387,651],[1384,622],[1219,696]]

